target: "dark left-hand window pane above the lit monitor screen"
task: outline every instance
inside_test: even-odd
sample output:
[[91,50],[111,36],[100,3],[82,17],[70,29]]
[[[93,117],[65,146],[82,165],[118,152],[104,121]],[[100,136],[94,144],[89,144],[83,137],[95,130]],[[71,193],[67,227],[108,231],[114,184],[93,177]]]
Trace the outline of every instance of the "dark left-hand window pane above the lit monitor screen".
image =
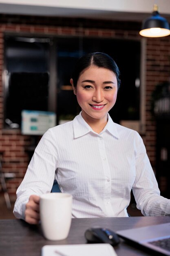
[[21,124],[22,110],[48,110],[49,43],[43,38],[5,38],[5,125]]

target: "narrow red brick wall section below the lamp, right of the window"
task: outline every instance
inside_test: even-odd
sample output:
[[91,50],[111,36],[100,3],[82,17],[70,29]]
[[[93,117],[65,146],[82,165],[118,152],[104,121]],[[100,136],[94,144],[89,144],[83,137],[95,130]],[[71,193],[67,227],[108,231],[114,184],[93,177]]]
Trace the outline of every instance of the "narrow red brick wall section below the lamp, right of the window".
[[146,135],[144,137],[150,162],[155,168],[156,123],[150,112],[151,94],[158,83],[170,79],[170,37],[147,39],[146,49]]

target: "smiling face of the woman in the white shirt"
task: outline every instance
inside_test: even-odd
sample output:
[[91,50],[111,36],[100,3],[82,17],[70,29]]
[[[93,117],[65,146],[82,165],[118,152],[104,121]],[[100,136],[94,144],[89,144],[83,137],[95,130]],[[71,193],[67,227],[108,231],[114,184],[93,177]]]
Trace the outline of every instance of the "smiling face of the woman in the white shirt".
[[[73,86],[73,80],[71,79]],[[82,117],[85,121],[107,121],[107,113],[113,108],[117,98],[117,78],[115,73],[103,67],[92,65],[79,76],[74,88]]]

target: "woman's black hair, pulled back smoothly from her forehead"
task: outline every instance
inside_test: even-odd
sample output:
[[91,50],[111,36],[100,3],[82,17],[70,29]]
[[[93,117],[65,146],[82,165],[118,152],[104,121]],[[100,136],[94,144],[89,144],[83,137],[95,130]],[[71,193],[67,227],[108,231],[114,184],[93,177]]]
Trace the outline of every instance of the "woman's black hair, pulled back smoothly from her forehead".
[[108,54],[102,53],[102,52],[92,52],[88,53],[81,58],[79,58],[77,65],[75,66],[75,70],[72,74],[73,84],[74,87],[77,86],[77,81],[79,79],[79,76],[81,75],[82,71],[86,70],[91,65],[94,65],[96,67],[104,67],[108,70],[113,71],[117,78],[117,88],[120,87],[120,72],[119,68],[117,67],[117,64],[111,58]]

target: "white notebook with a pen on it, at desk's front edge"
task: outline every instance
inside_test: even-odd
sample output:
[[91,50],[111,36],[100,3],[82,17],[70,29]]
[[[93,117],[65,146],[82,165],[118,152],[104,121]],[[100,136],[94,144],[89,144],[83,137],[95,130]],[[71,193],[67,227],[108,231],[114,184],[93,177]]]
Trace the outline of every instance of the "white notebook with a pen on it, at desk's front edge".
[[44,245],[41,256],[117,256],[109,244]]

